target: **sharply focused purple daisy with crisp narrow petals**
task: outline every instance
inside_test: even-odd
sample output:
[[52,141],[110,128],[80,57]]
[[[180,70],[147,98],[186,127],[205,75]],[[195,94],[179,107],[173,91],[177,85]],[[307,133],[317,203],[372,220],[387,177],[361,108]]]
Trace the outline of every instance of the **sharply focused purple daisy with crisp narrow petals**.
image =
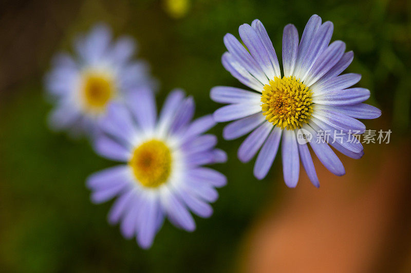
[[[240,145],[238,158],[247,162],[259,151],[254,165],[256,178],[267,175],[282,141],[286,184],[296,186],[301,160],[311,182],[320,185],[307,144],[297,142],[296,134],[301,128],[311,134],[312,150],[335,175],[344,175],[344,166],[329,144],[317,143],[316,139],[322,138],[322,130],[329,132],[329,143],[339,152],[352,158],[364,154],[361,143],[349,140],[348,133],[363,133],[365,125],[356,118],[377,118],[381,111],[362,103],[369,98],[369,90],[350,88],[361,75],[340,75],[351,63],[353,53],[345,52],[345,44],[340,40],[329,44],[332,31],[331,22],[322,24],[321,17],[313,15],[299,41],[295,26],[287,25],[283,33],[283,72],[259,20],[254,20],[251,26],[239,27],[242,43],[247,48],[232,34],[224,37],[228,52],[222,55],[222,65],[257,92],[223,86],[213,88],[214,101],[229,103],[215,111],[214,118],[218,122],[236,120],[224,128],[225,139],[235,139],[252,131]],[[334,132],[341,133],[341,130],[343,140],[332,143]]]

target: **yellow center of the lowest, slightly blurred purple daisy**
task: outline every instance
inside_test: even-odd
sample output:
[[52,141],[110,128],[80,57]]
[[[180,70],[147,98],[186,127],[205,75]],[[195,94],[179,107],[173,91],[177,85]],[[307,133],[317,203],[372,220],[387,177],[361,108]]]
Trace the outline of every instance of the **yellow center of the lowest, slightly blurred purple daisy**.
[[139,145],[128,164],[145,187],[158,187],[171,173],[171,152],[164,142],[153,139]]

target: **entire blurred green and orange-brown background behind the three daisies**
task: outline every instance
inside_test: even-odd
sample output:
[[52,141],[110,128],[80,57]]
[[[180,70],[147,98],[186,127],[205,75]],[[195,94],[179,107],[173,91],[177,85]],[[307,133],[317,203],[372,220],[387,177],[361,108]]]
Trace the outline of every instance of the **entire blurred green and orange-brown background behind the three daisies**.
[[[411,270],[409,1],[187,1],[179,18],[160,1],[0,3],[0,271]],[[115,163],[99,158],[86,139],[47,128],[52,106],[44,99],[43,76],[53,54],[72,52],[78,32],[105,22],[115,37],[138,40],[138,57],[150,62],[161,83],[157,102],[183,88],[194,96],[198,117],[219,107],[209,98],[213,86],[242,87],[221,65],[223,35],[238,37],[241,24],[258,18],[281,62],[284,26],[293,23],[301,36],[314,13],[331,20],[333,40],[354,51],[347,72],[362,74],[359,86],[371,91],[367,102],[383,111],[364,122],[393,131],[390,143],[365,145],[361,160],[340,155],[342,178],[316,161],[320,189],[304,171],[289,189],[281,158],[257,181],[254,160],[236,158],[242,139],[223,140],[219,124],[211,132],[229,160],[215,167],[228,185],[219,190],[214,215],[196,217],[194,233],[166,221],[149,250],[123,239],[118,226],[106,222],[111,203],[91,204],[84,185],[89,174]]]

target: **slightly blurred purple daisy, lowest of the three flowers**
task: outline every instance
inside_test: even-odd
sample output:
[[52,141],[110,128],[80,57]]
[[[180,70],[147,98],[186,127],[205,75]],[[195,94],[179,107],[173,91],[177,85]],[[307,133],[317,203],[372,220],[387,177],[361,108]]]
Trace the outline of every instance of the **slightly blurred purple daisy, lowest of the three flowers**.
[[211,115],[191,121],[194,100],[175,90],[157,118],[151,90],[140,90],[128,101],[108,106],[102,133],[95,139],[98,154],[123,162],[88,178],[95,203],[118,197],[108,215],[120,222],[125,238],[136,236],[143,248],[152,245],[167,217],[175,226],[192,231],[190,211],[200,217],[213,213],[210,202],[226,177],[203,165],[225,162],[215,149],[217,138],[203,134],[215,125]]

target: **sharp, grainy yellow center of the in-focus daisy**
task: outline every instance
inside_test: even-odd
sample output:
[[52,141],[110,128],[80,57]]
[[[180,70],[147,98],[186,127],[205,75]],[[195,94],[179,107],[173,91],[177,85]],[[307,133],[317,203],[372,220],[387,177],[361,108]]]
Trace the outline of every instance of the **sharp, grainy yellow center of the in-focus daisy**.
[[295,77],[274,77],[264,86],[261,109],[266,119],[287,130],[308,123],[312,114],[311,90]]

